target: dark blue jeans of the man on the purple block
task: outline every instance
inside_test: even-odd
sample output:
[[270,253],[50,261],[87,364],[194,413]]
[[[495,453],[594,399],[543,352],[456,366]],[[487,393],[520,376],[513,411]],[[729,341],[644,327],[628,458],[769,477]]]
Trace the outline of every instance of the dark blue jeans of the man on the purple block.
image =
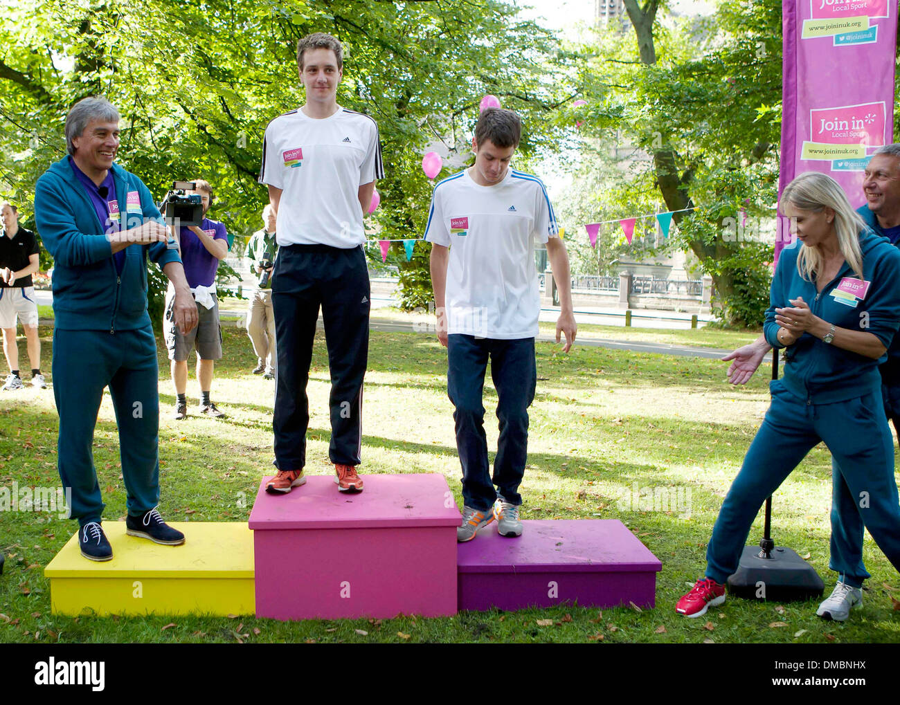
[[[488,359],[497,388],[500,438],[491,481],[484,433],[482,392]],[[447,396],[455,406],[456,448],[463,466],[463,500],[479,511],[491,508],[497,490],[510,504],[522,504],[518,486],[528,453],[528,406],[535,398],[535,339],[495,340],[447,336]]]

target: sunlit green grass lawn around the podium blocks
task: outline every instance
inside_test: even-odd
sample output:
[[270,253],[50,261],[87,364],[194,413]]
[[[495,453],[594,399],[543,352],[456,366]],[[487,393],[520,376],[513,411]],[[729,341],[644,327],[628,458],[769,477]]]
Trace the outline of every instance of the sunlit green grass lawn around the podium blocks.
[[[50,333],[42,328],[43,369],[50,369]],[[174,394],[168,375],[160,380],[160,511],[172,521],[245,522],[261,477],[271,472],[271,382],[249,373],[255,362],[245,332],[225,328],[226,359],[217,366],[212,397],[229,417],[170,418]],[[24,345],[20,345],[23,353]],[[161,346],[160,346],[161,349]],[[446,397],[446,351],[433,335],[372,335],[365,389],[364,465],[361,472],[438,472],[460,500],[452,407]],[[49,583],[42,568],[74,531],[73,522],[40,513],[0,513],[0,640],[4,642],[132,641],[588,641],[611,642],[896,642],[900,612],[891,591],[896,571],[869,539],[864,558],[872,579],[865,607],[848,623],[815,616],[815,601],[744,602],[729,599],[706,619],[685,620],[674,603],[701,574],[716,513],[768,406],[766,382],[746,388],[725,384],[721,362],[576,347],[569,355],[552,344],[537,345],[538,382],[531,408],[525,481],[526,519],[621,519],[662,560],[657,606],[603,610],[564,605],[548,610],[464,613],[453,618],[371,622],[209,617],[69,618],[50,613]],[[160,367],[167,361],[160,354]],[[52,380],[51,380],[52,381]],[[328,365],[317,337],[312,361],[308,469],[328,474]],[[0,397],[0,486],[57,486],[57,417],[52,389],[28,388]],[[489,445],[496,447],[490,376],[485,390]],[[193,406],[197,387],[188,383]],[[410,404],[410,399],[415,404]],[[117,433],[109,397],[97,424],[94,459],[107,520],[125,514],[118,467]],[[690,491],[689,516],[678,511],[639,511],[620,506],[635,483]],[[831,466],[816,448],[775,495],[774,534],[825,579]],[[249,504],[249,503],[247,503]],[[751,540],[761,535],[761,520]],[[894,593],[900,597],[900,593]],[[8,621],[6,620],[8,618]],[[536,620],[553,620],[540,626]],[[785,627],[771,627],[784,622]],[[174,627],[163,629],[174,623]],[[238,626],[240,629],[238,629]],[[663,628],[662,631],[660,628]],[[256,630],[259,633],[256,633]],[[357,633],[357,629],[368,632]],[[398,636],[409,635],[409,639]]]

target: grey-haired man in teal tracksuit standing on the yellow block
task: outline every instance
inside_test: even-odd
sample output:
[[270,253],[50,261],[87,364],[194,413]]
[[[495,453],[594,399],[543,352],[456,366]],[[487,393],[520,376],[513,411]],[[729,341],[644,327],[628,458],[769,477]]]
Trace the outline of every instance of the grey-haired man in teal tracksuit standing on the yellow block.
[[53,388],[59,414],[58,469],[71,487],[81,553],[109,560],[103,500],[91,450],[103,388],[119,426],[126,531],[168,545],[184,534],[166,525],[159,501],[157,348],[147,312],[147,256],[175,285],[175,320],[196,325],[197,308],[175,241],[137,176],[113,163],[119,113],[85,98],[66,118],[68,156],[35,187],[41,239],[54,259]]

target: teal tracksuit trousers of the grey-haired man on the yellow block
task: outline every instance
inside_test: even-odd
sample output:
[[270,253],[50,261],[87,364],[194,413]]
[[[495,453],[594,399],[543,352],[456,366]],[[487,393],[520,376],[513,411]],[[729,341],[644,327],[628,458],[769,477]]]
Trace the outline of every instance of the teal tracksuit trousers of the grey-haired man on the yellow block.
[[109,386],[119,426],[128,513],[159,502],[159,371],[153,328],[53,332],[53,394],[59,413],[58,467],[72,488],[72,518],[99,522],[103,499],[94,469],[94,427]]

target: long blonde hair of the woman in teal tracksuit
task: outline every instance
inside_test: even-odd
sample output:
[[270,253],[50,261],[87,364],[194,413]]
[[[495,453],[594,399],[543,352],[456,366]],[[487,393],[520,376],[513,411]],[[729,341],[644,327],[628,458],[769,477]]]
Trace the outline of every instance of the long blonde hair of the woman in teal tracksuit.
[[[860,232],[866,229],[866,223],[853,210],[839,183],[821,172],[805,172],[788,183],[781,193],[782,212],[786,203],[797,210],[810,210],[814,213],[821,213],[825,208],[833,210],[834,231],[844,260],[860,279],[863,278]],[[823,256],[818,247],[803,245],[800,248],[797,254],[797,272],[806,281],[815,281],[815,275],[821,272],[822,265]]]

